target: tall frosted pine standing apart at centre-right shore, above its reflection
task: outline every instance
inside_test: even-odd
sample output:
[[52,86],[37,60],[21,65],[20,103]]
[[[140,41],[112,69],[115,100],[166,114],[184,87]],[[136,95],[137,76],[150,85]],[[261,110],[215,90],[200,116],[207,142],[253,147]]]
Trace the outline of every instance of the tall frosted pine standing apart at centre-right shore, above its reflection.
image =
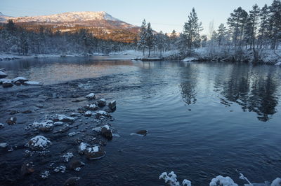
[[188,15],[188,22],[183,26],[183,36],[185,37],[185,48],[188,49],[188,55],[191,54],[193,48],[200,46],[200,31],[202,31],[202,23],[199,22],[195,8],[192,8],[190,15]]

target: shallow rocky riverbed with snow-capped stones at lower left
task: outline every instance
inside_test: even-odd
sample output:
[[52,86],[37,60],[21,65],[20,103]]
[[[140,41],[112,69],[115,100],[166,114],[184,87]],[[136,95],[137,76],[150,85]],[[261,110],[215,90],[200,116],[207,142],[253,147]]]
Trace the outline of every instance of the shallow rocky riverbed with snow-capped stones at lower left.
[[[115,137],[110,113],[116,101],[103,98],[106,81],[2,88],[0,183],[79,184],[79,172],[105,157],[105,146]],[[56,183],[55,174],[66,172],[72,176]]]

